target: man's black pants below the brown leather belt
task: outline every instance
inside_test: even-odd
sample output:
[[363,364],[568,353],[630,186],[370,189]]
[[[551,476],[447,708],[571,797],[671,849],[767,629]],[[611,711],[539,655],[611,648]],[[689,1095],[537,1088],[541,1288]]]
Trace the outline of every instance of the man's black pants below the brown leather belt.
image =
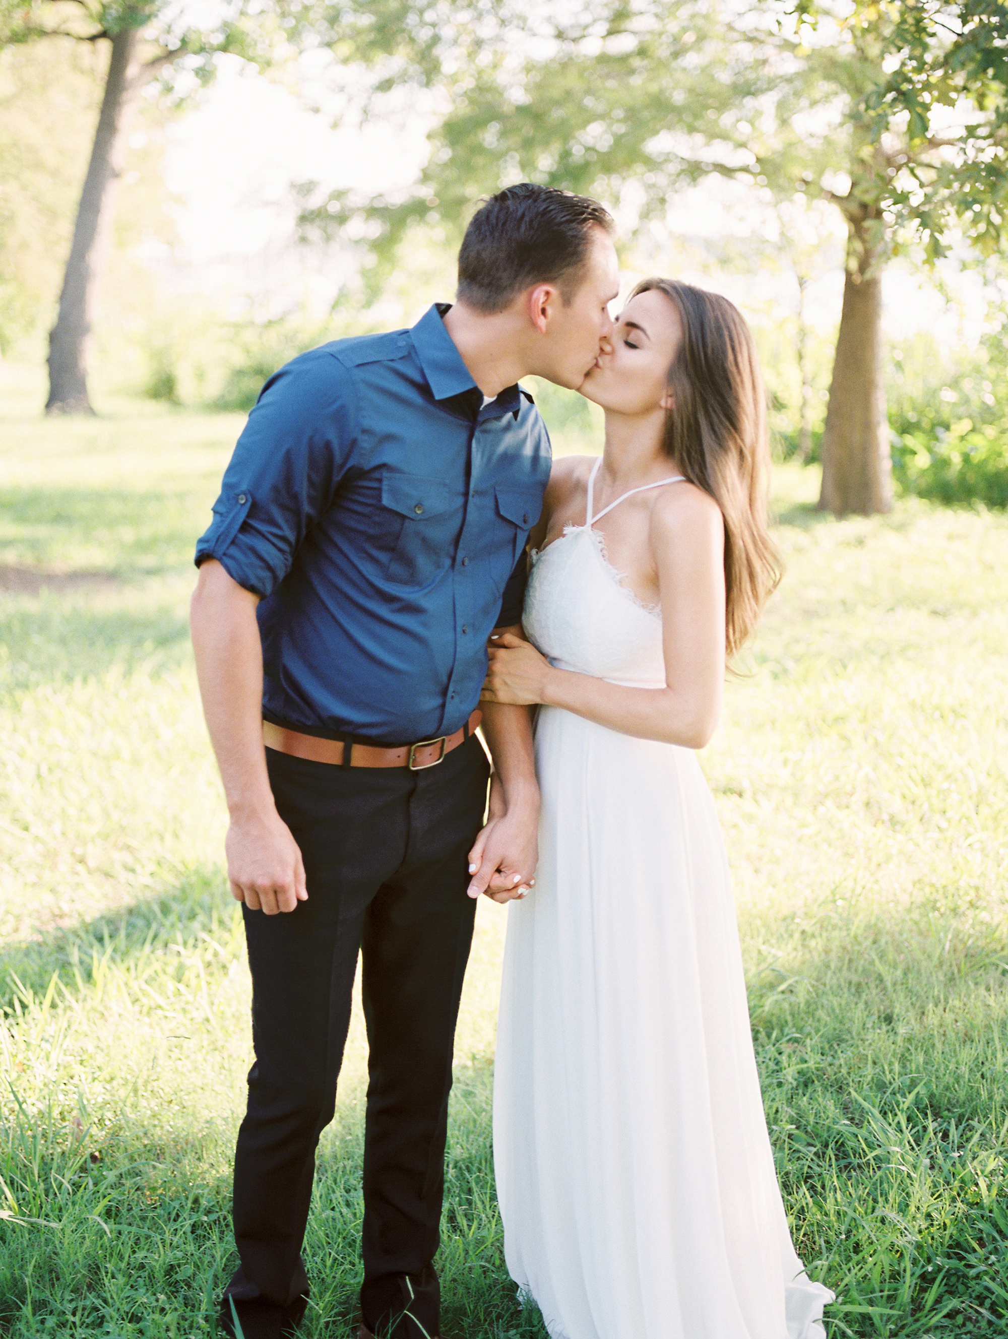
[[245,908],[256,1063],[234,1157],[241,1268],[222,1314],[233,1299],[245,1339],[277,1339],[304,1311],[315,1149],[335,1110],[361,949],[361,1310],[371,1331],[434,1336],[452,1040],[475,916],[467,853],[483,817],[486,757],[470,739],[424,771],[341,769],[272,750],[266,759],[308,901],[278,916]]

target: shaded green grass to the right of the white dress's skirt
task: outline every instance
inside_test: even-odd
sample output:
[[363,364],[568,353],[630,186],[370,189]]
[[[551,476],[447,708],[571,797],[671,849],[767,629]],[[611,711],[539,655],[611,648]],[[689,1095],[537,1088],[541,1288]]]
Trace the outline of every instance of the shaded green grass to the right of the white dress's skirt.
[[[825,921],[825,915],[822,921]],[[1004,935],[918,908],[837,916],[751,975],[763,1101],[833,1335],[1008,1328]]]

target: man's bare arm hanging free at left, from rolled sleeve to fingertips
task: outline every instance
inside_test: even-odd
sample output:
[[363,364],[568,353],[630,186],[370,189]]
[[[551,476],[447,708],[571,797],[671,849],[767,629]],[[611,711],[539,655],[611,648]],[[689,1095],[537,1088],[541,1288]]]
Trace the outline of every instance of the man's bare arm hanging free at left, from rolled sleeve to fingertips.
[[[190,607],[199,696],[230,813],[225,850],[232,894],[266,916],[305,901],[304,864],[273,802],[262,747],[258,596],[207,558]],[[506,708],[505,708],[506,710]],[[511,708],[515,710],[515,708]]]

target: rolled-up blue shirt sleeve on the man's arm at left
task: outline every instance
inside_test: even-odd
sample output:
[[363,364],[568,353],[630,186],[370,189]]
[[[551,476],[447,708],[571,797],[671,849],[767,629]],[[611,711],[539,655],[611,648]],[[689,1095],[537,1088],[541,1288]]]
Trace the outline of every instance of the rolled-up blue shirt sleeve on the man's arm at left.
[[327,349],[303,353],[262,387],[224,474],[195,564],[216,558],[265,599],[332,505],[356,437],[351,379]]

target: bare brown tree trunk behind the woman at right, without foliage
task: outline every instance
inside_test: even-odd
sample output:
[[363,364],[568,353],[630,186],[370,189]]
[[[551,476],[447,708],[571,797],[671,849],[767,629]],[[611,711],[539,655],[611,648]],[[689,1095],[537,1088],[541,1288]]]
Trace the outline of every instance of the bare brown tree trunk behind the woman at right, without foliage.
[[869,209],[845,212],[850,226],[849,265],[822,438],[819,510],[871,516],[893,507],[882,376],[879,270],[885,240]]

